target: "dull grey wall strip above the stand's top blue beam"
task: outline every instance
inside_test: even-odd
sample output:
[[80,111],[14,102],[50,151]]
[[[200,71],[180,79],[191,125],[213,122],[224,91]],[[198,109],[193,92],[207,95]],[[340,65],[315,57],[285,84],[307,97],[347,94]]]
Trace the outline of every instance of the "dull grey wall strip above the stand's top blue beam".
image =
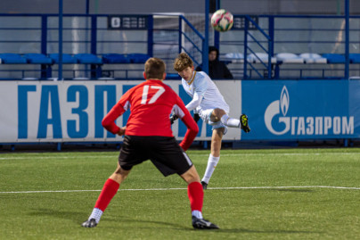
[[[212,0],[210,0],[212,1]],[[237,14],[342,14],[344,0],[222,0],[221,7]],[[58,0],[1,0],[0,13],[57,13]],[[205,0],[89,0],[89,13],[202,13]],[[63,0],[64,13],[86,13],[86,0]],[[350,14],[360,13],[360,1],[350,0]]]

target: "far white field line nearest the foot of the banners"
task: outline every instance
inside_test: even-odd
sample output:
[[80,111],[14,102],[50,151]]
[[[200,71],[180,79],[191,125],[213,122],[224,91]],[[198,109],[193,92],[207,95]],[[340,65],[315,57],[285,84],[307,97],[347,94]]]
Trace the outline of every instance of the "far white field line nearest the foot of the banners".
[[[38,153],[34,153],[38,154]],[[324,156],[324,155],[360,155],[360,153],[225,153],[221,154],[222,157],[226,156]],[[117,158],[119,153],[116,153],[114,155],[75,155],[74,156],[26,156],[26,157],[0,157],[0,160],[21,160],[21,159],[73,159],[73,158],[86,158],[86,159],[96,159],[96,158]],[[209,156],[209,153],[190,153],[191,156]]]

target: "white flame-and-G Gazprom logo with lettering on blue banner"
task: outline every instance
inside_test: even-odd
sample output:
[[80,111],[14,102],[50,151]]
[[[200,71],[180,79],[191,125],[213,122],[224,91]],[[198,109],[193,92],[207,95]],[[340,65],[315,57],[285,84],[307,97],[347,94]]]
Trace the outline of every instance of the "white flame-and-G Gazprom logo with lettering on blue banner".
[[[354,134],[354,116],[287,116],[290,95],[282,87],[280,99],[270,103],[264,115],[266,128],[274,135],[326,136]],[[278,121],[278,122],[277,122]]]

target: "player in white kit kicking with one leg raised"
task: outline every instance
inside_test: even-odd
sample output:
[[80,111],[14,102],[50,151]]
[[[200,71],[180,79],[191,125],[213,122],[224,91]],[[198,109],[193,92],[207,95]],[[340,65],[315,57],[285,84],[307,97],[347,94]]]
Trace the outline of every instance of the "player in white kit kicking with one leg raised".
[[[208,187],[209,180],[220,160],[220,149],[223,136],[227,127],[241,128],[246,133],[250,132],[248,117],[242,114],[240,119],[229,117],[230,108],[225,102],[215,83],[203,71],[195,71],[192,59],[188,54],[179,54],[174,62],[174,69],[182,78],[185,92],[192,96],[192,101],[186,105],[187,110],[194,111],[194,120],[204,120],[212,126],[211,153],[208,166],[205,170],[201,184],[204,189]],[[173,115],[170,120],[176,120]]]

